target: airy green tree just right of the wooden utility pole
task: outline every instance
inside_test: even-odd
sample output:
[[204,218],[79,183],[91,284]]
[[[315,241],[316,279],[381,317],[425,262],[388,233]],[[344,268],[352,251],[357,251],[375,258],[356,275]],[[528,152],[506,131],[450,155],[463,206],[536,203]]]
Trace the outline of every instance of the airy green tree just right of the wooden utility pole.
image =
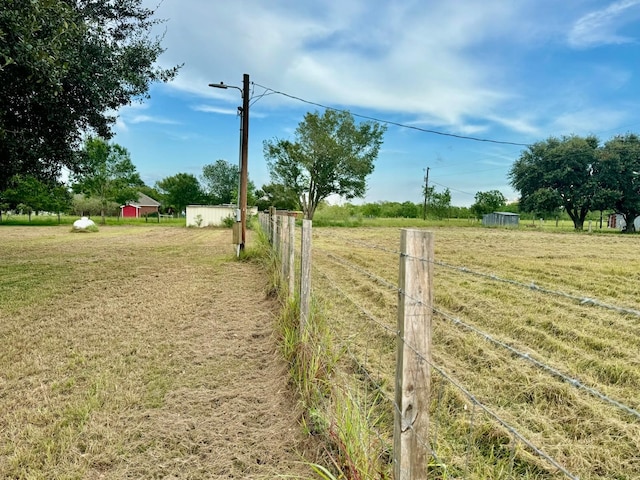
[[313,219],[329,195],[350,200],[365,194],[385,130],[376,122],[356,125],[349,112],[307,113],[298,124],[295,141],[264,142],[271,179],[289,189],[305,217]]

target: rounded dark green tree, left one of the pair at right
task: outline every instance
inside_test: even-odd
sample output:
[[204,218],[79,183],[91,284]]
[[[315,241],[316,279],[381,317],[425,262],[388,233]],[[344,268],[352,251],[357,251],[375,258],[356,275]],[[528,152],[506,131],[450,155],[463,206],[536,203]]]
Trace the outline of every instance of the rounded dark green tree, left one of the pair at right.
[[582,230],[595,207],[598,190],[598,139],[594,136],[550,137],[522,152],[511,167],[511,185],[520,192],[520,209],[543,213],[562,207]]

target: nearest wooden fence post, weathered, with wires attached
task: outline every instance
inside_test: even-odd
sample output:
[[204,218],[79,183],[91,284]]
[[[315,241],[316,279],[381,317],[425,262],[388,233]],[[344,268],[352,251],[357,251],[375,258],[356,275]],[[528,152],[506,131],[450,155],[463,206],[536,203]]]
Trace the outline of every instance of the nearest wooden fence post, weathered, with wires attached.
[[401,230],[393,456],[395,480],[425,480],[430,452],[433,234]]

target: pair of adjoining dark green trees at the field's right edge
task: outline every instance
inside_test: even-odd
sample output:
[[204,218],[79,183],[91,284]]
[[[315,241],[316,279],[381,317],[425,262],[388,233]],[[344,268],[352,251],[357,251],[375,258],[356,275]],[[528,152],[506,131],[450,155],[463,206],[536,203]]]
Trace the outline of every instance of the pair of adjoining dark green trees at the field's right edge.
[[527,148],[509,177],[525,212],[564,211],[576,230],[589,212],[613,211],[624,232],[640,215],[640,137],[616,135],[603,145],[595,136],[550,137]]

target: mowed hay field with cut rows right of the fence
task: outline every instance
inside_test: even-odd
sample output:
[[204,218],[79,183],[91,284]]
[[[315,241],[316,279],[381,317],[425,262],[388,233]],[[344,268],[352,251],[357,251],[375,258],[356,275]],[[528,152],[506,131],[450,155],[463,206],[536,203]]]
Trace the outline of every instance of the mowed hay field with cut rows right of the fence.
[[[509,427],[433,373],[434,478],[565,478],[517,435],[581,479],[640,478],[640,420],[514,355],[530,355],[640,411],[637,236],[482,228],[431,229],[436,261],[433,361]],[[314,230],[314,293],[353,372],[354,391],[393,398],[396,228]],[[564,292],[543,293],[509,282]],[[474,333],[455,319],[479,330]],[[487,338],[490,337],[490,338]],[[363,383],[364,381],[364,383]],[[365,386],[363,386],[365,385]],[[367,386],[368,385],[368,386]],[[392,412],[388,402],[380,408]],[[391,414],[376,429],[391,437]]]

